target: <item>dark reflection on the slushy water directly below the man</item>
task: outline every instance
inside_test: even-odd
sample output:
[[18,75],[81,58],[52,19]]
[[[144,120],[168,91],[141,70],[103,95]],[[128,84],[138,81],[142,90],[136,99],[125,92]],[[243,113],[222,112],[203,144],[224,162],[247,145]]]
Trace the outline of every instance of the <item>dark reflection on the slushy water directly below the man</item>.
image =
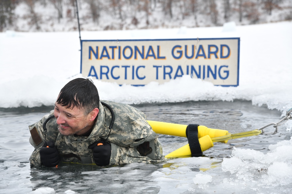
[[[32,190],[53,188],[55,192],[76,193],[158,193],[150,174],[162,164],[129,164],[124,167],[99,168],[94,165],[62,165],[60,168],[31,169]],[[134,190],[133,190],[134,189]],[[135,191],[135,192],[134,192]]]

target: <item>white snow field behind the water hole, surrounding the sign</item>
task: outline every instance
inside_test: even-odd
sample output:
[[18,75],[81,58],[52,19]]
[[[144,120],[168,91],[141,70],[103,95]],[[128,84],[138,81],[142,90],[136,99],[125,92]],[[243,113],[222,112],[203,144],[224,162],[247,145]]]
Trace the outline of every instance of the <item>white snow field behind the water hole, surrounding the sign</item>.
[[[240,37],[239,86],[220,87],[183,76],[144,87],[94,80],[101,99],[128,104],[189,100],[251,100],[285,113],[292,107],[292,22],[129,31],[84,31],[83,40]],[[0,33],[0,107],[53,105],[60,89],[81,76],[78,32]],[[125,95],[126,94],[126,95]]]

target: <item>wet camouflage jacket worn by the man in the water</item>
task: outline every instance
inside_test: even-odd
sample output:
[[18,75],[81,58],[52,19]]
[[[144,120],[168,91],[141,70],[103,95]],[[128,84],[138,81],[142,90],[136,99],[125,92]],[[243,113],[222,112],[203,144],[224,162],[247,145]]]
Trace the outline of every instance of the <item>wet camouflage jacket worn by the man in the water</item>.
[[[95,164],[92,150],[88,145],[105,140],[108,137],[112,147],[109,165],[122,165],[132,162],[156,163],[164,160],[158,135],[152,131],[146,121],[146,115],[127,104],[103,101],[114,111],[115,119],[112,130],[109,124],[111,112],[100,103],[98,118],[91,134],[87,136],[64,136],[59,133],[56,118],[46,124],[46,141],[53,140],[57,146],[61,162]],[[29,126],[31,137],[29,142],[35,150],[30,156],[31,166],[41,166],[39,149],[44,145],[45,132],[43,122],[53,115],[45,115],[39,122]],[[110,134],[109,134],[110,133]]]

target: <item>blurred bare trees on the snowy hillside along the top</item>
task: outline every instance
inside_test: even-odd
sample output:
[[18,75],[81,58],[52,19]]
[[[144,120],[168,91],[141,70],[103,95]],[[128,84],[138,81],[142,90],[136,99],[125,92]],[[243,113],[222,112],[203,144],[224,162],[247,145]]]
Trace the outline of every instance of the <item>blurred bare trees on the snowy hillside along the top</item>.
[[[292,20],[292,0],[77,0],[81,30]],[[0,0],[0,31],[75,31],[76,0]]]

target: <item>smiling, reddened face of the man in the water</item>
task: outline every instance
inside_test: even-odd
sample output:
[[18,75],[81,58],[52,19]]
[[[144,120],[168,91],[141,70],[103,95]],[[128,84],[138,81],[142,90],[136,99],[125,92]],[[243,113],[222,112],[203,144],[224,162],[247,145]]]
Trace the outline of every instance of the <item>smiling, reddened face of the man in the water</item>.
[[54,115],[59,132],[65,136],[85,134],[93,126],[89,119],[90,114],[84,115],[83,109],[77,107],[66,108],[55,102]]

